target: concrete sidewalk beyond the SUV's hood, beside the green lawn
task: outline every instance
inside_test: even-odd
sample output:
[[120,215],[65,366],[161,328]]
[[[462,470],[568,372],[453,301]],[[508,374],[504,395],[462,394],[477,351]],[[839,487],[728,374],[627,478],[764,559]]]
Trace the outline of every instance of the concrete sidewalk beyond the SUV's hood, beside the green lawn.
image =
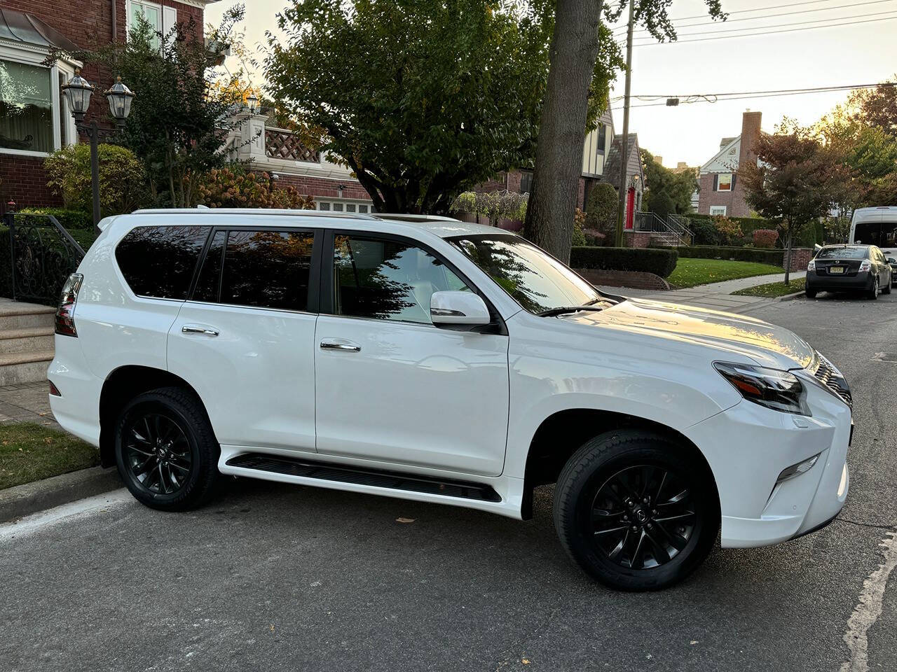
[[[791,273],[791,278],[799,280],[806,275],[806,271]],[[674,289],[668,292],[656,292],[649,289],[627,289],[623,287],[599,287],[599,291],[609,294],[620,294],[624,297],[644,297],[654,301],[666,301],[666,303],[684,304],[686,306],[698,306],[710,310],[723,310],[727,313],[746,313],[755,308],[768,306],[779,299],[768,297],[739,297],[732,292],[739,289],[766,285],[770,282],[785,280],[785,273],[772,273],[771,275],[755,275],[753,278],[740,278],[738,280],[725,280],[714,282],[710,285],[699,285],[688,289]]]

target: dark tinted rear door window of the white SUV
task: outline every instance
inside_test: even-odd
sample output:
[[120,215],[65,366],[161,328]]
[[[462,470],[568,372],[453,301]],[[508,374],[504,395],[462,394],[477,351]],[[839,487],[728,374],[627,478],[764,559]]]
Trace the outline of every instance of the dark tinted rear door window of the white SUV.
[[305,310],[314,241],[309,231],[229,232],[221,302]]

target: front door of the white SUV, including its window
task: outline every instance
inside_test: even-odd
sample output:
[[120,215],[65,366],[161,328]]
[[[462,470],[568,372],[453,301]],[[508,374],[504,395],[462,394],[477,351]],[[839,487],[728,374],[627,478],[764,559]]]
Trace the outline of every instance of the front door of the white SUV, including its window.
[[[404,239],[336,235],[323,254],[318,452],[501,474],[508,337],[451,331],[430,320],[432,293],[469,289],[466,282]],[[328,304],[332,314],[323,314]]]

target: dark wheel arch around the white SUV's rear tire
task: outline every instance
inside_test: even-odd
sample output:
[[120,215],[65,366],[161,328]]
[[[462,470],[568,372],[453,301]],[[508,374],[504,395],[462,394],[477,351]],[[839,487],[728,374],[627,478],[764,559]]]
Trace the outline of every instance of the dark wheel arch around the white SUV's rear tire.
[[208,417],[208,410],[196,389],[179,375],[153,366],[119,366],[106,377],[100,392],[100,464],[103,467],[115,465],[115,422],[118,413],[138,394],[160,387],[182,387],[193,392]]

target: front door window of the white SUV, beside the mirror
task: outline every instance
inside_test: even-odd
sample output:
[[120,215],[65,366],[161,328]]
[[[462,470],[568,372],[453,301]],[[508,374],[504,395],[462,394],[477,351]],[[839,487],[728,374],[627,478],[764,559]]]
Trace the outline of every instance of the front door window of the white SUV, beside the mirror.
[[336,314],[430,324],[435,291],[468,289],[439,259],[397,241],[335,237]]

